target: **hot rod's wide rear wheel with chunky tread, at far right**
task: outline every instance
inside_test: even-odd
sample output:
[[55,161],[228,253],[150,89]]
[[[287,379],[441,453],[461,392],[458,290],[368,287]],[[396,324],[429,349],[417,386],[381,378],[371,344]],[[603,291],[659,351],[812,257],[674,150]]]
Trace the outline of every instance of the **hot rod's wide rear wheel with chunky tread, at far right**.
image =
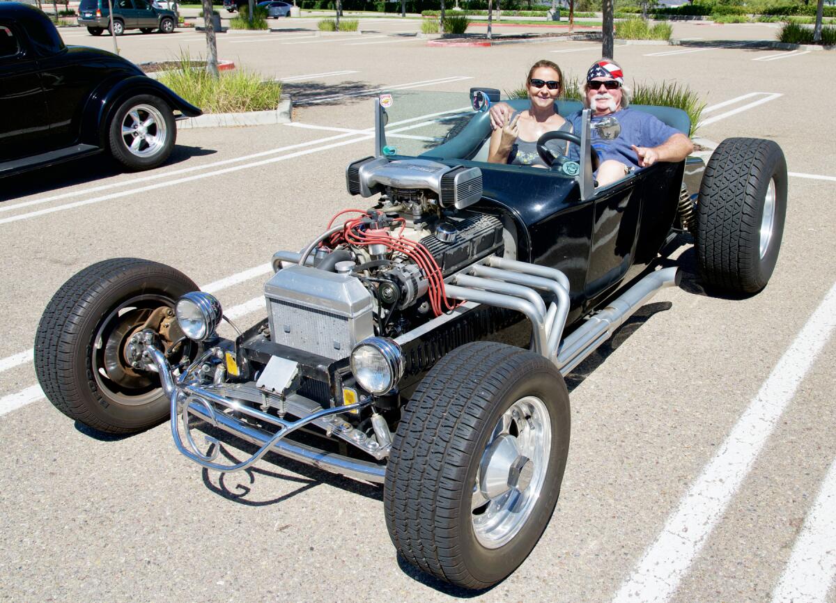
[[767,286],[787,214],[781,147],[772,140],[723,140],[708,161],[696,207],[701,279],[734,294]]

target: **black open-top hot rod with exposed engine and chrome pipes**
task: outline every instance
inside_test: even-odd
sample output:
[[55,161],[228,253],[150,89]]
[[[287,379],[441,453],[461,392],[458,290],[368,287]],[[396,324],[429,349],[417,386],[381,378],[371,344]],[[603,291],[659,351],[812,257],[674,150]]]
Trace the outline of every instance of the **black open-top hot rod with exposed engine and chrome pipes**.
[[[659,163],[596,188],[590,140],[618,124],[593,129],[588,112],[578,135],[561,133],[578,162],[544,139],[551,170],[487,164],[488,114],[472,109],[487,98],[375,99],[375,155],[345,172],[349,194],[370,200],[275,253],[267,317],[237,337],[217,335],[221,305],[173,268],[122,258],[80,271],[38,327],[43,391],[105,432],[170,417],[176,448],[209,469],[272,451],[383,484],[406,560],[467,588],[504,579],[558,499],[563,375],[678,283],[660,251],[685,231],[706,286],[766,286],[787,173],[777,144],[726,139],[707,166]],[[689,132],[679,109],[635,109]],[[216,438],[192,437],[201,420],[257,451],[222,464]]]

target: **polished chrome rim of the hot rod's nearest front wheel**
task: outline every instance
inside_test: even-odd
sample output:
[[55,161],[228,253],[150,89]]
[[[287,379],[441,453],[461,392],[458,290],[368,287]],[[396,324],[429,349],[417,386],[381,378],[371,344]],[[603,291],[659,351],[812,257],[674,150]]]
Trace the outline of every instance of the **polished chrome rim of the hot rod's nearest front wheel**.
[[507,544],[531,516],[546,479],[551,425],[543,400],[526,396],[493,428],[471,499],[473,532],[482,546]]

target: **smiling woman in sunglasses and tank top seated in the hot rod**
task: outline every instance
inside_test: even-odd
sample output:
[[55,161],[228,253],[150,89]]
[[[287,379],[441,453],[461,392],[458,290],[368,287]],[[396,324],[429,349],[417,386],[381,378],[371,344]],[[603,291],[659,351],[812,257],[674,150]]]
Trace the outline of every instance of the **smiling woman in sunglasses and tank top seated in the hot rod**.
[[554,111],[554,101],[563,94],[563,72],[556,63],[534,63],[528,70],[526,89],[531,101],[528,109],[512,114],[504,127],[491,134],[490,163],[548,168],[537,152],[538,139],[553,130],[572,131],[572,124]]

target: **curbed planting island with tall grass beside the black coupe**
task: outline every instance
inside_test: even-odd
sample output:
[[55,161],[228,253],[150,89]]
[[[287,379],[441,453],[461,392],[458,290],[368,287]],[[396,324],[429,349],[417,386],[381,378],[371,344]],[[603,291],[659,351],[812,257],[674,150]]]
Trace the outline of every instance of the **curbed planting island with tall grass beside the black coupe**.
[[281,82],[235,69],[232,61],[218,63],[217,78],[206,71],[205,60],[187,57],[163,63],[140,63],[140,68],[203,111],[198,117],[178,120],[178,129],[290,122],[293,103],[288,94],[282,94]]

